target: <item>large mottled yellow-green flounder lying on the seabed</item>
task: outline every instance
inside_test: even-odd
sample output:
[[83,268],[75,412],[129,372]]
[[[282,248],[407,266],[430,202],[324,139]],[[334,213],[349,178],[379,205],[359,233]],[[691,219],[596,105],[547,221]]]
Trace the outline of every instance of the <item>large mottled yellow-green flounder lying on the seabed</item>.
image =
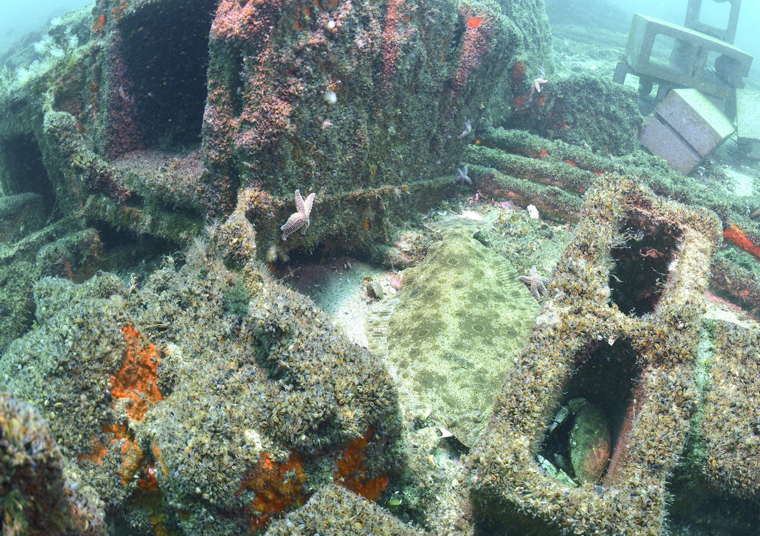
[[404,404],[464,445],[485,429],[493,397],[538,313],[515,269],[473,239],[486,222],[454,217],[404,287],[369,319],[369,349],[386,358]]

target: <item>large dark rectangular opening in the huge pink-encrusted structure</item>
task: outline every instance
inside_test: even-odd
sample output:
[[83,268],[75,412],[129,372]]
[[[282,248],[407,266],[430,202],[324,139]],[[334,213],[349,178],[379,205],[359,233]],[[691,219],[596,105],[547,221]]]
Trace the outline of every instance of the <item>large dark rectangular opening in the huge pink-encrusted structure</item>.
[[121,21],[125,68],[149,148],[201,142],[216,5],[216,0],[146,3]]

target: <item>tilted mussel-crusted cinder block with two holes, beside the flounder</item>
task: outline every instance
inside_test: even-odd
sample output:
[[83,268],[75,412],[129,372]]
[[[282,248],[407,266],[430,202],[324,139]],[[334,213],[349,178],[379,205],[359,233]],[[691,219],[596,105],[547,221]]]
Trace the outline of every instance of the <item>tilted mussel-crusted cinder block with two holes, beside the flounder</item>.
[[494,534],[665,531],[720,222],[622,177],[584,213],[470,453],[473,509]]

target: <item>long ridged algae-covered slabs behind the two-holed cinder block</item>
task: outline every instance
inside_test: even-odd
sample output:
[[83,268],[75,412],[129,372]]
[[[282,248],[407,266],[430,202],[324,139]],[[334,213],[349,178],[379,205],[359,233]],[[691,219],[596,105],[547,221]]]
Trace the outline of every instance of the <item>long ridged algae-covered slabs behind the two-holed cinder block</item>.
[[521,207],[534,204],[542,217],[560,222],[580,219],[583,195],[603,173],[646,177],[657,195],[714,211],[723,222],[724,241],[731,246],[718,249],[711,258],[711,289],[758,318],[760,277],[753,265],[760,224],[750,217],[755,201],[752,196],[734,195],[733,188],[715,176],[683,176],[660,158],[641,152],[605,157],[585,147],[506,128],[478,132],[464,160],[481,197],[505,198]]

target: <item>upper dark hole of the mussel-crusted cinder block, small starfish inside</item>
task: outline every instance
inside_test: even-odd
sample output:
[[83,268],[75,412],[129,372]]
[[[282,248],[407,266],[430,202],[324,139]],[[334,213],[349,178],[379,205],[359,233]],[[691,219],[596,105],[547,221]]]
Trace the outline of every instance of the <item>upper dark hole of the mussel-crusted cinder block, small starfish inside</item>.
[[627,315],[644,316],[660,303],[668,266],[676,256],[681,232],[640,211],[630,211],[618,226],[610,255],[610,300]]

